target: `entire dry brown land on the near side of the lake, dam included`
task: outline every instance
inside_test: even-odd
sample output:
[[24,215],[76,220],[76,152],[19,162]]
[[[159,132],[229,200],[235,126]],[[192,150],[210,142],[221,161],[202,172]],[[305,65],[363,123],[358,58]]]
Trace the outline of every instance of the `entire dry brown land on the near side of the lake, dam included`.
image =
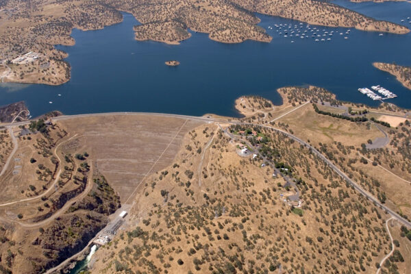
[[97,239],[91,273],[406,273],[408,110],[315,86],[278,92],[282,105],[236,100],[242,119],[91,114],[10,127],[1,267],[69,259],[58,271]]

